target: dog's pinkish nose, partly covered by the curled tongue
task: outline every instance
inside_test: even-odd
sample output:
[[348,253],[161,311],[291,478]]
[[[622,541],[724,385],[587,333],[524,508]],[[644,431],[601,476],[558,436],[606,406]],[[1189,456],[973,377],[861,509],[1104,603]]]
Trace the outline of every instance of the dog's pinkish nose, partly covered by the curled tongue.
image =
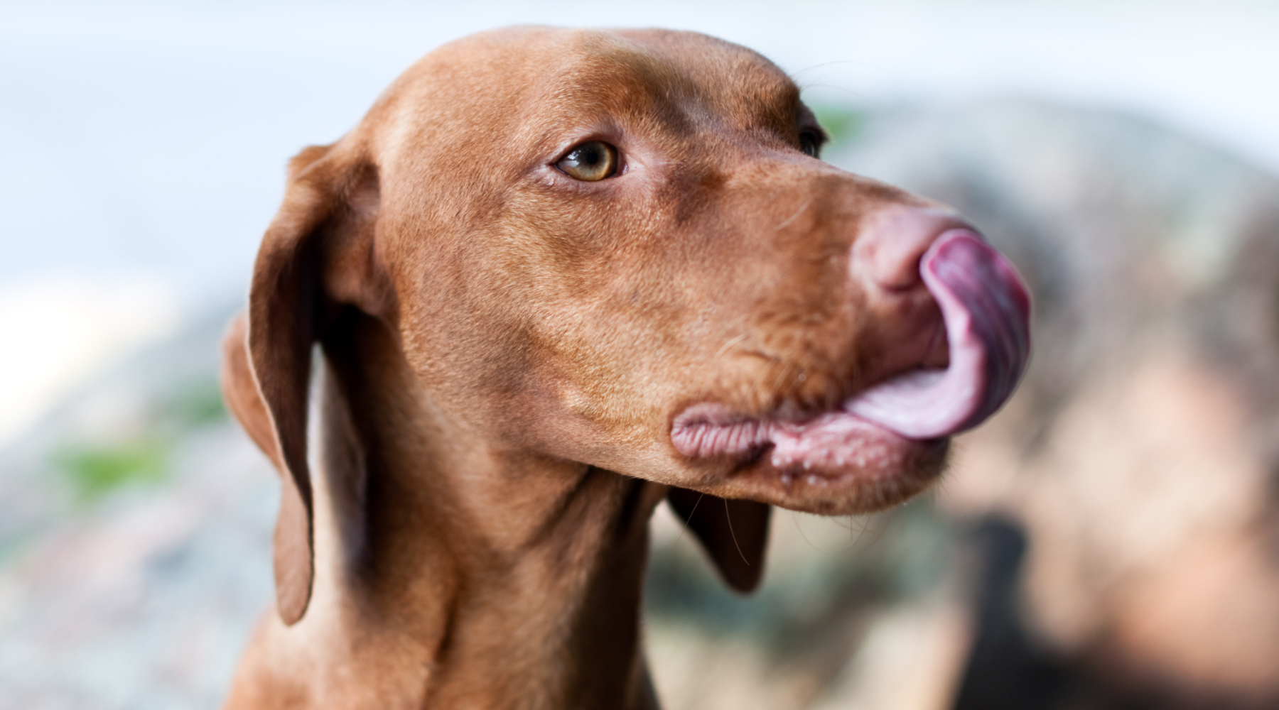
[[[920,259],[929,246],[953,229],[972,230],[954,212],[893,206],[868,215],[853,243],[853,269],[884,291],[904,291],[921,283]],[[975,230],[973,230],[975,231]]]

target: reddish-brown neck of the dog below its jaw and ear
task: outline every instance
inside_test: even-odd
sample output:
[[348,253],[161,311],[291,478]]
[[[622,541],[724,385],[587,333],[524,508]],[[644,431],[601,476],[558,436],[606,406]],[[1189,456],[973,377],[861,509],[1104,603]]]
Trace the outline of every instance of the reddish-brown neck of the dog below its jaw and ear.
[[664,487],[500,449],[385,331],[349,335],[325,349],[312,600],[251,654],[310,656],[283,673],[304,706],[656,707],[640,604]]

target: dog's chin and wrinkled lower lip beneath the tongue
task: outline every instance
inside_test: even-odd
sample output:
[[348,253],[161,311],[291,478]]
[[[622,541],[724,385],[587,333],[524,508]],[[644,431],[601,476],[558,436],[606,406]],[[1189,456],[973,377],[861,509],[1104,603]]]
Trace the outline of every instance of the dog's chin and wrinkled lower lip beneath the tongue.
[[726,471],[714,488],[729,497],[820,515],[900,503],[941,475],[950,449],[949,437],[911,439],[847,411],[794,420],[733,416],[715,405],[677,418],[671,441]]

